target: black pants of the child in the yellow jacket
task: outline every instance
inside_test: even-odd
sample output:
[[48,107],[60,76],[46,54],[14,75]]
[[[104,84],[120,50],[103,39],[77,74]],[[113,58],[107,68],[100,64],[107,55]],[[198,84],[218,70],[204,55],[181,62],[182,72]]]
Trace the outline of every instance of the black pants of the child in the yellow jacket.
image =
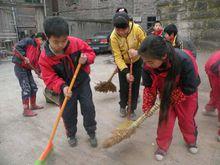
[[[141,71],[142,71],[142,59],[139,59],[135,63],[133,63],[133,76],[134,82],[132,83],[132,96],[131,96],[131,112],[137,108],[137,101],[139,95],[139,88],[140,88],[140,80],[141,80]],[[130,64],[127,64],[128,68],[130,69]],[[120,107],[126,108],[128,105],[128,90],[129,90],[129,83],[126,78],[126,74],[119,71],[119,84],[120,84]]]

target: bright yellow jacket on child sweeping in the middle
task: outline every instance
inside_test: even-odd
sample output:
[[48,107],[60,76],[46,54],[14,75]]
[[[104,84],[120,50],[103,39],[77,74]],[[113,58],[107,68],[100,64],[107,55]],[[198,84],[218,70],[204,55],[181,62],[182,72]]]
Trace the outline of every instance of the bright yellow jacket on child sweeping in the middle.
[[[112,53],[114,55],[115,63],[120,71],[128,68],[126,64],[130,64],[128,50],[137,50],[146,37],[146,33],[140,25],[129,22],[129,26],[131,30],[126,38],[119,36],[115,30],[113,30],[110,36]],[[138,61],[139,58],[140,56],[132,58],[132,62],[134,63]]]

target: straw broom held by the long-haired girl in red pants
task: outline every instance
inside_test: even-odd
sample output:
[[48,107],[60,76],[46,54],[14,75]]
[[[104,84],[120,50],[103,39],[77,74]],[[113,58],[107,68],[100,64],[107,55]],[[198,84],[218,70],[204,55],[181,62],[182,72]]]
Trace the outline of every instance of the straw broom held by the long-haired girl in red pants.
[[103,148],[109,148],[115,144],[120,143],[124,139],[130,138],[130,136],[135,133],[136,128],[138,128],[146,118],[152,116],[154,112],[158,109],[159,109],[159,104],[155,103],[155,105],[148,112],[140,116],[127,128],[116,129],[115,131],[113,131],[112,136],[103,142],[102,144]]

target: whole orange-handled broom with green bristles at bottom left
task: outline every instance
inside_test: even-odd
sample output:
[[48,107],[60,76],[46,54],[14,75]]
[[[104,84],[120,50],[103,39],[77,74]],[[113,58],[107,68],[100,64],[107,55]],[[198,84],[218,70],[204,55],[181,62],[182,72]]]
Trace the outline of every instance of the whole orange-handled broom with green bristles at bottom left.
[[[77,75],[79,73],[80,67],[81,67],[81,64],[79,63],[77,65],[77,68],[76,68],[75,72],[74,72],[73,78],[72,78],[70,86],[68,88],[68,91],[72,90],[73,85],[74,85],[75,80],[76,80],[76,77],[77,77]],[[35,161],[35,165],[43,165],[43,164],[45,164],[45,160],[46,160],[47,156],[49,155],[49,153],[51,152],[51,150],[53,148],[53,139],[54,139],[54,136],[55,136],[55,133],[56,133],[57,126],[59,124],[60,118],[61,118],[61,116],[63,114],[64,108],[65,108],[65,106],[67,104],[67,100],[68,100],[68,97],[65,97],[65,99],[63,101],[63,104],[62,104],[62,106],[60,108],[60,111],[59,111],[59,113],[57,115],[56,121],[55,121],[55,123],[53,125],[53,130],[52,130],[52,132],[50,134],[50,138],[49,138],[49,141],[47,143],[47,146],[44,149],[44,151],[42,152],[42,154],[39,157],[39,159]]]

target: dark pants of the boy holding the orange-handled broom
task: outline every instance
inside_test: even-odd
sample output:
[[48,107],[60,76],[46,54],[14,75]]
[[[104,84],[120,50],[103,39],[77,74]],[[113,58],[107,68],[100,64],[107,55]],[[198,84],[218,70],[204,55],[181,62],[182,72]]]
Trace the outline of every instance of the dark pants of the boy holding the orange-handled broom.
[[[81,114],[83,115],[83,126],[88,135],[94,135],[96,130],[95,106],[92,100],[92,91],[90,88],[90,78],[86,79],[77,88],[72,90],[73,94],[68,100],[63,112],[63,121],[66,128],[67,137],[75,136],[77,132],[77,102],[80,103]],[[60,101],[63,102],[64,96],[60,95]]]

